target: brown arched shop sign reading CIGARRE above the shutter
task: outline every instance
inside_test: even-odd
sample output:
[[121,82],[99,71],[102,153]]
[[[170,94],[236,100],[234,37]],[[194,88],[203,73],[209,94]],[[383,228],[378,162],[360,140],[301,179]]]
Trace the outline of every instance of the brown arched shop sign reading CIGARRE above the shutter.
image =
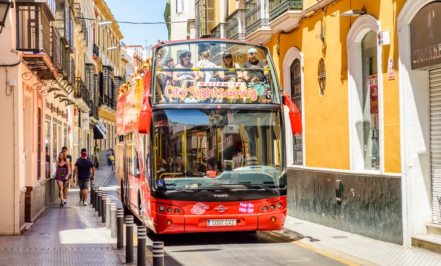
[[441,63],[441,2],[422,8],[411,22],[412,69]]

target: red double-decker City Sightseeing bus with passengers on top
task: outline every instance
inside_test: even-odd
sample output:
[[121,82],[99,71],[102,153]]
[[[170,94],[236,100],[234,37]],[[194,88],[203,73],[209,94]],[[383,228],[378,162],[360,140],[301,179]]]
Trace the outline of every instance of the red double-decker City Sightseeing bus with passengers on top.
[[302,123],[281,94],[269,50],[172,41],[156,45],[145,65],[117,103],[124,207],[149,233],[282,229],[285,126],[299,135]]

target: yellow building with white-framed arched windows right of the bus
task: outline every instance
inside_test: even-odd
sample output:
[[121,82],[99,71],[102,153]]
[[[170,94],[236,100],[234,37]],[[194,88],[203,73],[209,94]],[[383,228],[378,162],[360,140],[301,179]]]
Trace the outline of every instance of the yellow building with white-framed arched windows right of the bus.
[[441,4],[194,2],[188,36],[264,43],[302,113],[303,135],[286,129],[288,215],[439,251]]

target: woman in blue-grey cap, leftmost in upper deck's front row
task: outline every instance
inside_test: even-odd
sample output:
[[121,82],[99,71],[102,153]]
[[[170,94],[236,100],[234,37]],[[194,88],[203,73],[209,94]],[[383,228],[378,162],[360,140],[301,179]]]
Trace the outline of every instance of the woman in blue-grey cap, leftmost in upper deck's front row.
[[[192,59],[192,53],[189,50],[182,50],[179,53],[179,63],[174,66],[175,69],[192,69],[193,63],[190,62]],[[179,87],[181,90],[186,89],[189,86],[197,85],[197,81],[199,80],[199,74],[197,71],[174,71],[173,72],[173,82],[175,87]],[[179,102],[183,102],[183,99],[180,99]]]

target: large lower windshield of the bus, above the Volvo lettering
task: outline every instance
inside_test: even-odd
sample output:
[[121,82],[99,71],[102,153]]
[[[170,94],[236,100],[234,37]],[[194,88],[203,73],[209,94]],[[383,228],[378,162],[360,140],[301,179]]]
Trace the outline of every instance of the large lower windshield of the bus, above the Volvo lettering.
[[157,190],[285,187],[279,110],[158,110]]

